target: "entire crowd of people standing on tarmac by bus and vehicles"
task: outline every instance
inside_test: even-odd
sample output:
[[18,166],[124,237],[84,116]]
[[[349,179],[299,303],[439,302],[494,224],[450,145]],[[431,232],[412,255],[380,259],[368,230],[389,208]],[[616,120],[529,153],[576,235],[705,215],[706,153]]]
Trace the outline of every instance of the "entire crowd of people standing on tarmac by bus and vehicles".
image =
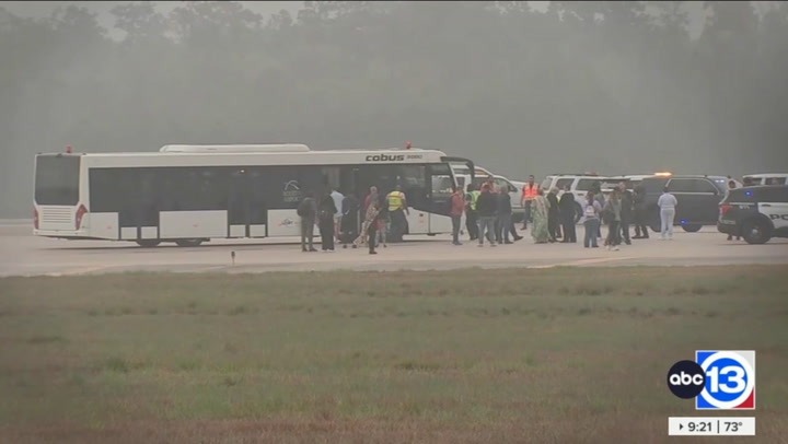
[[[483,247],[485,238],[490,246],[513,244],[523,238],[518,234],[512,220],[511,197],[506,188],[498,189],[493,177],[488,177],[478,189],[468,185],[465,192],[455,187],[451,197],[450,215],[452,219],[452,244],[462,245],[460,232],[462,218],[470,239],[477,241]],[[558,188],[545,190],[534,184],[534,176],[523,187],[522,203],[525,209],[523,230],[532,223],[531,236],[536,244],[577,243],[576,222],[578,220],[575,196],[566,188],[558,197]],[[607,226],[603,246],[618,250],[622,243],[630,245],[631,239],[648,238],[646,226],[645,192],[636,186],[633,191],[624,183],[618,184],[605,199],[601,185],[596,184],[588,191],[582,202],[584,226],[583,247],[598,248],[602,238],[602,225]],[[657,205],[660,208],[661,238],[673,237],[673,219],[676,198],[664,189]],[[367,245],[371,255],[376,254],[378,245],[387,246],[387,238],[402,241],[407,231],[406,214],[409,213],[407,199],[401,186],[387,195],[370,187],[362,202],[352,194],[344,196],[336,189],[329,189],[321,198],[308,192],[298,207],[301,218],[301,249],[316,252],[313,246],[313,226],[321,234],[323,252],[334,252],[335,242],[344,248],[348,245],[357,248]],[[359,221],[359,214],[362,220]],[[360,223],[359,223],[360,222]],[[629,236],[629,227],[635,225],[635,236]]]

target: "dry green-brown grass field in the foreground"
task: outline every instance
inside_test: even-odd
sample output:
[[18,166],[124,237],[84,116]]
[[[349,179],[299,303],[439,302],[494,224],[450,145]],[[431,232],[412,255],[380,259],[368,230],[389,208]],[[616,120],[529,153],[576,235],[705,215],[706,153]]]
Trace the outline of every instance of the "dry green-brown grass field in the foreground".
[[786,442],[786,271],[0,279],[0,442],[660,443],[700,348],[756,350]]

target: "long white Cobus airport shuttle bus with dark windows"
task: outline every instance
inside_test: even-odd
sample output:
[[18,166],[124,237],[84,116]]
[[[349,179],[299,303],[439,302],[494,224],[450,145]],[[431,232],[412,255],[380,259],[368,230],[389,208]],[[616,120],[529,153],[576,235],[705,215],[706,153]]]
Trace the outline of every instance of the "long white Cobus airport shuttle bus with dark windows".
[[[70,151],[70,150],[69,150]],[[419,149],[312,151],[306,145],[166,145],[144,153],[35,157],[34,234],[157,246],[299,236],[304,192],[385,195],[403,187],[408,234],[451,233],[450,163]],[[315,233],[317,229],[315,227]]]

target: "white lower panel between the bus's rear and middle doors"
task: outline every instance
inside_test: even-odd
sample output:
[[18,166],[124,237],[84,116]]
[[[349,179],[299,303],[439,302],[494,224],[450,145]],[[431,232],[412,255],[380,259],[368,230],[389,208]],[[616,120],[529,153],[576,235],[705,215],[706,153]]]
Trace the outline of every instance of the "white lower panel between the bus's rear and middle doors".
[[228,236],[227,211],[162,211],[160,237],[215,238]]

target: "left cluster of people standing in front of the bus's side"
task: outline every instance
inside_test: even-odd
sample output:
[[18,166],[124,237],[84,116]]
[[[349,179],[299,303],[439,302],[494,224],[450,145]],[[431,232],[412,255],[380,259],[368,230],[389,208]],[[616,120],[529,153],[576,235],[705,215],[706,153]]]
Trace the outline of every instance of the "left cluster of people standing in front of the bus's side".
[[[313,245],[314,226],[317,225],[323,252],[334,252],[336,243],[340,243],[343,248],[348,245],[358,248],[366,244],[369,253],[374,255],[378,245],[387,246],[389,236],[395,242],[402,241],[407,231],[406,214],[409,210],[402,187],[396,186],[381,196],[373,186],[363,202],[359,202],[355,195],[344,196],[335,188],[329,188],[320,198],[311,191],[306,192],[297,213],[301,219],[302,252],[317,252]],[[363,214],[361,223],[359,214]]]

